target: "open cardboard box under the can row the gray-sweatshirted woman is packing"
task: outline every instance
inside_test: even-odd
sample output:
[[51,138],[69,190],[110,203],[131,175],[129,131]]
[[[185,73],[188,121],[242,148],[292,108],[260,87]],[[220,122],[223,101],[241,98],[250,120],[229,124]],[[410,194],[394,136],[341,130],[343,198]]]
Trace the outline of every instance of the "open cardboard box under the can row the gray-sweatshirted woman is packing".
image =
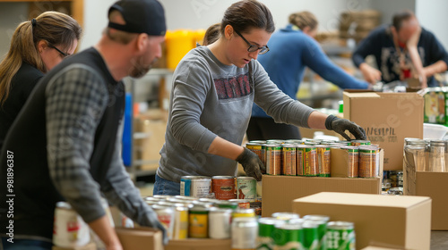
[[380,179],[263,175],[262,182],[263,217],[273,212],[292,212],[295,199],[320,192],[381,194]]

